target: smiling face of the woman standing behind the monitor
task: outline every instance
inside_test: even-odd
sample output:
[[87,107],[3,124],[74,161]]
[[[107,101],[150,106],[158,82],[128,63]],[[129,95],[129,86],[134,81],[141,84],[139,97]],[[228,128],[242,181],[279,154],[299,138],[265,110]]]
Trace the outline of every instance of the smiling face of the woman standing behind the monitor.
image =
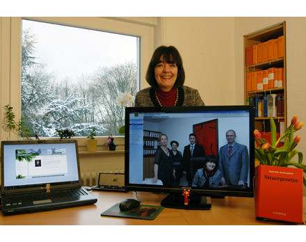
[[155,79],[159,89],[163,92],[170,91],[177,81],[177,65],[175,63],[166,63],[161,56],[161,63],[154,68]]

